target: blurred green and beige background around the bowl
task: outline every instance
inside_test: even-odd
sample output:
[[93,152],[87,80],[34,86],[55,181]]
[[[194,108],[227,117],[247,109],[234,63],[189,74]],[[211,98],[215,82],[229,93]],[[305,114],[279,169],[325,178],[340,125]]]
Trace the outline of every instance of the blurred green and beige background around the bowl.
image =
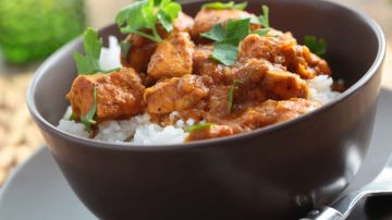
[[[25,103],[26,88],[39,64],[86,25],[100,28],[113,23],[117,12],[131,2],[0,0],[0,185],[44,145]],[[388,52],[382,85],[392,88],[392,0],[339,2],[365,11],[383,28]]]

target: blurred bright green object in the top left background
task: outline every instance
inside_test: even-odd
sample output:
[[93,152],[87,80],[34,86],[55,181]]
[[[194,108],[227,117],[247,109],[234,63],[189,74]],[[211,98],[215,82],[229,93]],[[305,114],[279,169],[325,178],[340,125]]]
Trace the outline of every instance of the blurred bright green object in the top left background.
[[0,50],[10,63],[46,58],[85,26],[83,0],[0,0]]

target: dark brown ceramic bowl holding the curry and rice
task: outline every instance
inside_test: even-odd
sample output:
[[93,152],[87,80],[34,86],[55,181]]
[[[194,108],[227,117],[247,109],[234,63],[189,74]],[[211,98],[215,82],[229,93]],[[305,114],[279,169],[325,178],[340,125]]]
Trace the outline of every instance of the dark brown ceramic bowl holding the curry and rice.
[[[195,15],[203,2],[185,3]],[[328,1],[250,0],[273,27],[327,39],[334,74],[350,88],[295,120],[231,137],[171,146],[124,146],[56,129],[75,78],[72,52],[49,58],[28,89],[28,107],[64,176],[100,219],[295,219],[332,201],[369,147],[385,41],[366,15]],[[112,25],[101,30],[120,36]],[[123,37],[123,36],[120,36]]]

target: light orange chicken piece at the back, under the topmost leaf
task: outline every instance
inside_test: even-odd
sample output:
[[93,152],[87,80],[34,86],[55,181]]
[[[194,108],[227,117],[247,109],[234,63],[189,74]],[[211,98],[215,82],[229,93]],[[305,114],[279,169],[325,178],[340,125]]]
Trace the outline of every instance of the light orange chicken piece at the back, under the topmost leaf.
[[[191,34],[193,38],[198,38],[201,33],[210,30],[215,25],[219,23],[225,23],[230,20],[242,20],[252,16],[255,15],[236,9],[201,9],[195,17],[195,24]],[[255,26],[254,28],[258,28],[258,26]]]

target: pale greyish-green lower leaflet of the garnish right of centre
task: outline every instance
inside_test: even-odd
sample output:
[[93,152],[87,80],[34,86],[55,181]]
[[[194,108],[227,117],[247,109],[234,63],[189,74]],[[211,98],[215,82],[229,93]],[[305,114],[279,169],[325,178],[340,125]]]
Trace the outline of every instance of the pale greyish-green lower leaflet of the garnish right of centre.
[[237,41],[237,39],[228,39],[215,42],[211,58],[225,65],[232,65],[238,54],[238,46],[235,44]]

